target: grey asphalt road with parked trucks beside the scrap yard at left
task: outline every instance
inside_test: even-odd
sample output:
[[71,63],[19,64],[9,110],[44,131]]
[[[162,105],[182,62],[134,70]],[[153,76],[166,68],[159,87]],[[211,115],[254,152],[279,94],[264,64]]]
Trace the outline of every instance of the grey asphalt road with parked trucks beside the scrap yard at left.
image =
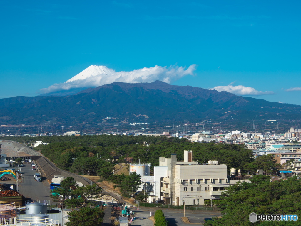
[[[18,192],[22,194],[24,197],[31,198],[32,200],[38,200],[38,199],[50,200],[50,204],[55,204],[55,202],[53,202],[49,197],[50,185],[45,180],[45,178],[42,178],[44,179],[42,182],[37,182],[35,179],[33,179],[33,175],[37,172],[36,170],[32,170],[31,164],[29,162],[28,163],[25,162],[24,166],[20,168],[21,168],[23,181],[22,183],[21,182],[18,183]],[[15,184],[16,180],[6,180],[6,181],[1,181],[0,183]]]

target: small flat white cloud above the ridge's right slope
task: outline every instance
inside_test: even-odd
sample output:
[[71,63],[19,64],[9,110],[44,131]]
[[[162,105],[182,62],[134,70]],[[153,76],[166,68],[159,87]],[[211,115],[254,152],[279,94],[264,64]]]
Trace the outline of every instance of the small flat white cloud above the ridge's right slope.
[[221,91],[227,91],[229,93],[233,93],[235,95],[239,96],[249,96],[249,95],[268,95],[268,94],[274,94],[272,91],[258,91],[252,87],[246,87],[246,86],[231,86],[232,83],[228,86],[215,86],[210,89],[215,89],[219,92]]

